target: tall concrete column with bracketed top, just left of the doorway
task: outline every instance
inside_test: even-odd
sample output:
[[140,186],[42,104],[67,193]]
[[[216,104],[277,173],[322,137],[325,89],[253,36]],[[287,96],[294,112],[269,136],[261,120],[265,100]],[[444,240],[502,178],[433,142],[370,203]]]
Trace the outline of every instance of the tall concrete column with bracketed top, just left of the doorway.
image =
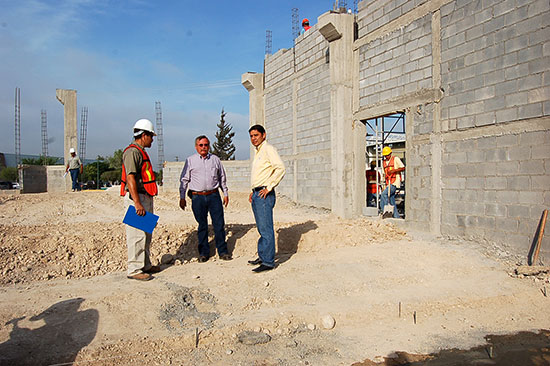
[[[353,123],[353,14],[325,13],[318,18],[318,29],[330,42],[331,207],[349,218],[362,212],[354,196],[361,190],[359,174],[365,179],[364,126]],[[362,133],[362,143],[356,133]],[[364,183],[362,190],[364,196]]]

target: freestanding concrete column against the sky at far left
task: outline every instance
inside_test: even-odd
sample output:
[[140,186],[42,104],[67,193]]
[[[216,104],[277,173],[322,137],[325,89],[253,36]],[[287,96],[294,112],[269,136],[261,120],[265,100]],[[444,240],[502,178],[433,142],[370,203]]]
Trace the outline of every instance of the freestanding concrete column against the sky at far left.
[[[78,139],[76,135],[76,90],[56,89],[55,96],[64,106],[64,146],[63,156],[64,165],[67,165],[69,159],[69,149],[74,147],[78,153]],[[69,174],[65,177],[65,189],[71,189],[71,177]]]

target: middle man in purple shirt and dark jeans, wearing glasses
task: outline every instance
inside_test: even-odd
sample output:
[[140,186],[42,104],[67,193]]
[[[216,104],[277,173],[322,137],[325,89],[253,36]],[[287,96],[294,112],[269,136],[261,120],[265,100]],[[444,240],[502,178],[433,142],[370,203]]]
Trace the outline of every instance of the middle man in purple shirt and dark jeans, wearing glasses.
[[185,192],[191,198],[191,209],[195,220],[199,224],[197,229],[199,237],[199,262],[204,263],[210,258],[210,246],[208,245],[208,212],[214,226],[216,249],[220,259],[231,260],[231,254],[227,250],[225,241],[225,221],[223,218],[222,200],[219,188],[223,191],[223,205],[227,207],[229,194],[225,170],[216,155],[210,154],[210,141],[208,137],[201,135],[195,139],[197,154],[193,154],[185,160],[185,166],[180,177],[180,207],[185,210]]

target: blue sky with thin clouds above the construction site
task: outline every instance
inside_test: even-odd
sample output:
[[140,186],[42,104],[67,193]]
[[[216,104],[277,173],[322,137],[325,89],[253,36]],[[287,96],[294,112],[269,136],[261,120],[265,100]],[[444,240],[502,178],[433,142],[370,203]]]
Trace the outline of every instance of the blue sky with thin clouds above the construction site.
[[[353,3],[349,1],[349,3]],[[272,50],[291,48],[292,8],[310,24],[334,0],[153,1],[0,0],[0,152],[15,152],[15,88],[21,90],[21,154],[63,156],[63,105],[56,89],[77,90],[77,120],[88,108],[86,158],[112,156],[131,142],[140,118],[156,124],[161,103],[165,160],[213,142],[222,108],[236,158],[249,157],[246,72],[263,72]],[[269,131],[268,131],[269,136]],[[79,137],[80,139],[80,137]],[[157,161],[157,141],[151,147]]]

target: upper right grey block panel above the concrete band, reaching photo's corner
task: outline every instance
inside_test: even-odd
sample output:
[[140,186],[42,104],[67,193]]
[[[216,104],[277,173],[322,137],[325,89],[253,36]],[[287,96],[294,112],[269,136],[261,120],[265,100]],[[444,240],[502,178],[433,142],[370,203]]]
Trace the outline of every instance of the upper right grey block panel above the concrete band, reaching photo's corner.
[[550,3],[452,1],[441,7],[445,130],[550,115]]

